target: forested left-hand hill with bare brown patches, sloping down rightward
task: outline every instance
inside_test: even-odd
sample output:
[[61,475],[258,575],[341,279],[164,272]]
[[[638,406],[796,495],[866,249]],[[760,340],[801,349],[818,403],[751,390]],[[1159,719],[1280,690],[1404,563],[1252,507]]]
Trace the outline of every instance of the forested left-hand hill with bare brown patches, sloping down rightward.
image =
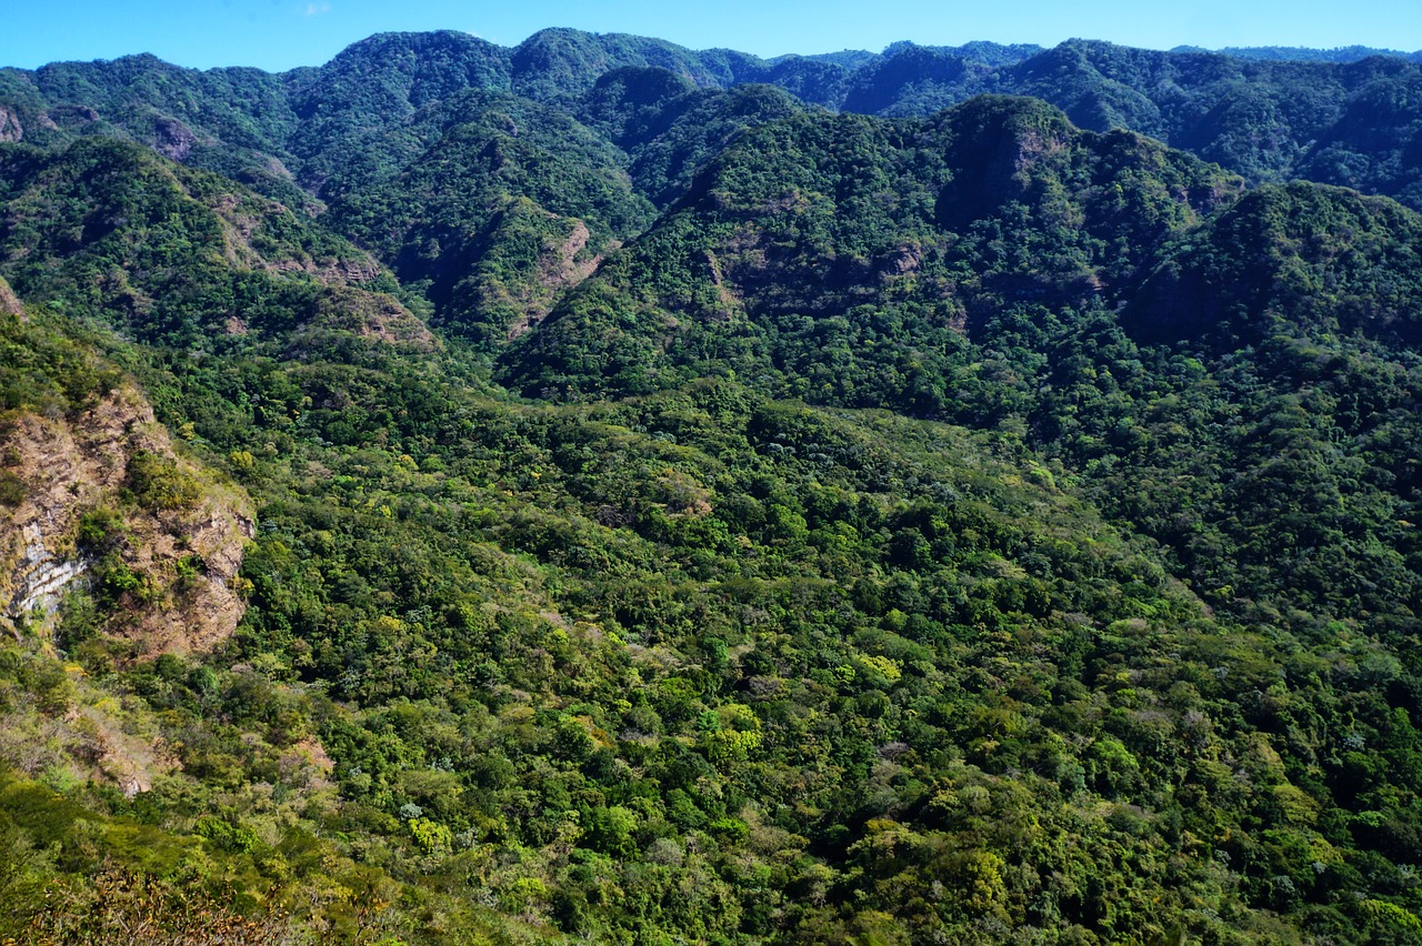
[[373,293],[394,284],[381,283],[370,256],[280,203],[146,149],[111,139],[58,153],[0,148],[0,270],[18,293],[102,310],[144,341],[240,345],[249,332],[284,334],[327,310],[346,310],[357,332],[385,312],[412,338],[429,338]]

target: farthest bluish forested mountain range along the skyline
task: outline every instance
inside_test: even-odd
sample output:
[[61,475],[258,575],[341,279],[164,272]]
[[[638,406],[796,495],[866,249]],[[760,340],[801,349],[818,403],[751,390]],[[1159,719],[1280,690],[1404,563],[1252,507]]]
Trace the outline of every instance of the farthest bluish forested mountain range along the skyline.
[[[1416,54],[1349,47],[1156,53],[1071,40],[1034,45],[897,43],[761,60],[661,40],[545,30],[515,48],[462,33],[381,34],[326,65],[279,75],[198,72],[152,57],[0,71],[0,138],[51,145],[118,134],[245,175],[284,172],[324,193],[341,155],[459,91],[515,94],[573,114],[609,72],[661,68],[695,88],[768,84],[808,105],[929,115],[983,92],[1032,95],[1092,131],[1129,128],[1254,182],[1304,178],[1422,206]],[[287,196],[293,196],[287,192]]]

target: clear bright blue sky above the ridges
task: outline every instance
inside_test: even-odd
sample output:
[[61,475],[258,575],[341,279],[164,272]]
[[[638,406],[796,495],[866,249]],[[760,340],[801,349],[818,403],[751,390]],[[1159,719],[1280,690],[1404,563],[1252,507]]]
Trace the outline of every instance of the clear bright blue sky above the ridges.
[[894,40],[1054,45],[1422,48],[1419,0],[3,0],[0,65],[154,53],[208,68],[319,65],[387,30],[451,28],[516,45],[543,27],[654,36],[759,55],[882,50]]

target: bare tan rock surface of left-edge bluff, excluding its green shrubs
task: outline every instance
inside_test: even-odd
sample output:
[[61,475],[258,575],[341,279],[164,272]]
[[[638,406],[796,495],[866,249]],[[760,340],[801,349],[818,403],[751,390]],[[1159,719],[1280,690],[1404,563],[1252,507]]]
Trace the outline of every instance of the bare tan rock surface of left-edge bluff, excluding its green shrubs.
[[[201,483],[183,509],[122,509],[119,486],[134,456],[148,452]],[[6,472],[23,486],[13,509],[0,507],[0,624],[17,632],[38,616],[53,628],[65,589],[94,567],[77,548],[80,518],[97,507],[122,509],[124,565],[145,577],[148,592],[105,615],[105,631],[134,642],[138,656],[210,648],[242,619],[235,591],[243,544],[253,534],[250,501],[235,487],[203,482],[178,457],[142,395],[122,386],[78,418],[21,415],[0,437]],[[196,574],[179,580],[179,562]]]

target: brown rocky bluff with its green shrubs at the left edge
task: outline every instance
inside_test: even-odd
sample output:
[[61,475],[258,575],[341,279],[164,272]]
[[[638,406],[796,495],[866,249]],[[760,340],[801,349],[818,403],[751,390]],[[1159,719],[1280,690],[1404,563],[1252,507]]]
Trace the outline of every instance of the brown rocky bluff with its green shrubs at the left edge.
[[67,648],[105,635],[124,642],[114,656],[151,658],[232,636],[250,503],[176,456],[132,386],[60,419],[9,412],[0,452],[0,618],[11,632],[34,618],[53,631],[78,582],[97,609],[67,615]]

